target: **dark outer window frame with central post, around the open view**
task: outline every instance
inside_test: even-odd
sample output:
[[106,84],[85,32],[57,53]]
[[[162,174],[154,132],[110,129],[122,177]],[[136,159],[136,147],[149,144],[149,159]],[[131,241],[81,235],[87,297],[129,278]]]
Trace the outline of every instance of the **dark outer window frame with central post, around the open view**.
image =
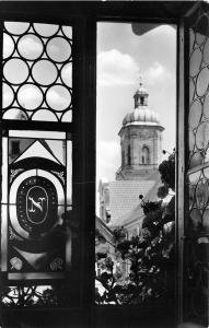
[[[163,1],[158,3],[154,1],[146,2],[58,2],[46,1],[39,8],[38,2],[1,2],[0,3],[0,20],[27,21],[28,16],[34,21],[51,23],[58,21],[60,24],[74,20],[78,22],[78,35],[82,35],[78,42],[78,52],[81,57],[78,60],[78,70],[73,77],[74,92],[74,110],[73,114],[73,147],[72,147],[72,190],[73,190],[73,207],[77,208],[74,215],[80,218],[80,253],[78,261],[80,262],[78,269],[80,274],[76,279],[79,285],[80,305],[77,308],[56,309],[66,315],[66,320],[71,320],[79,326],[78,323],[92,324],[95,327],[119,327],[123,323],[131,320],[132,325],[138,320],[142,320],[150,315],[158,317],[158,311],[154,308],[139,307],[113,307],[113,306],[94,306],[94,238],[95,231],[95,143],[96,143],[96,23],[98,22],[141,22],[141,23],[167,23],[176,24],[177,26],[177,52],[176,52],[176,185],[178,200],[176,200],[176,241],[178,257],[176,258],[176,281],[179,279],[179,271],[183,261],[182,237],[179,231],[183,229],[184,207],[179,199],[184,199],[184,169],[185,169],[185,153],[184,153],[184,121],[185,121],[185,63],[184,63],[184,23],[183,15],[194,5],[193,2],[185,3],[177,1],[173,4],[173,10],[170,10],[169,2]],[[184,3],[183,3],[184,2]],[[163,8],[161,7],[163,5]],[[48,8],[50,7],[50,14]],[[42,12],[42,17],[40,17]],[[56,19],[55,19],[56,14]],[[2,39],[1,39],[2,50]],[[2,72],[0,72],[2,75]],[[179,84],[178,84],[179,81]],[[0,94],[0,101],[2,101]],[[42,128],[42,122],[39,127]],[[21,121],[4,122],[1,128],[23,129],[24,125]],[[28,126],[34,129],[33,124]],[[48,127],[51,129],[51,126]],[[66,127],[68,129],[68,127]],[[57,127],[56,127],[57,129]],[[181,133],[181,134],[179,134]],[[179,138],[177,137],[179,134]],[[181,150],[181,152],[179,152]],[[182,152],[183,150],[183,152]],[[179,154],[181,153],[181,154]],[[90,165],[91,163],[91,165]],[[1,164],[1,163],[0,163]],[[179,178],[178,178],[179,176]],[[183,215],[183,216],[182,216]],[[79,246],[78,246],[79,247]],[[88,268],[88,269],[86,269]],[[176,291],[178,296],[178,308],[174,311],[181,317],[183,301],[182,300],[182,284],[178,283]],[[177,304],[176,304],[177,305]],[[53,309],[54,311],[54,309]],[[164,308],[162,309],[164,311]],[[139,313],[140,312],[140,313]],[[10,312],[9,312],[10,313]],[[27,312],[28,315],[30,312]],[[36,316],[36,311],[30,313],[33,318]],[[46,311],[47,313],[47,311]],[[49,309],[48,313],[51,314]],[[20,313],[19,313],[20,315]],[[24,314],[25,315],[25,314]],[[81,318],[82,316],[82,318]],[[43,316],[42,316],[43,317]],[[55,318],[55,316],[53,316]],[[32,320],[32,319],[31,319]],[[53,319],[51,319],[53,321]],[[65,321],[65,319],[63,319]],[[106,325],[106,326],[105,326]],[[124,324],[126,325],[126,324]],[[47,326],[46,326],[47,327]],[[76,326],[77,327],[77,326]],[[111,326],[109,326],[111,327]],[[123,327],[123,326],[120,326]],[[135,326],[132,326],[135,327]]]

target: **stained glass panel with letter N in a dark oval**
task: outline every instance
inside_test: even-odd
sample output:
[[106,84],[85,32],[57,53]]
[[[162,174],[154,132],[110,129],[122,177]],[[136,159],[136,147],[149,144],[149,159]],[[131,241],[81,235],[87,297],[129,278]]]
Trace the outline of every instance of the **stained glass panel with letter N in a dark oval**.
[[2,269],[9,280],[63,278],[71,262],[65,229],[71,204],[71,141],[56,131],[8,134],[2,138]]

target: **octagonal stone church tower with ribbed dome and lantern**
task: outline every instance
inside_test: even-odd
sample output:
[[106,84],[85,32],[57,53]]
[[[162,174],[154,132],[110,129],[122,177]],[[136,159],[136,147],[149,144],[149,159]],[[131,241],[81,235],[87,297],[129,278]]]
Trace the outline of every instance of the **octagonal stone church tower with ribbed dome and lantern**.
[[133,95],[135,110],[125,116],[119,131],[121,166],[117,180],[149,179],[158,171],[162,153],[162,131],[158,115],[148,108],[148,92],[140,82]]

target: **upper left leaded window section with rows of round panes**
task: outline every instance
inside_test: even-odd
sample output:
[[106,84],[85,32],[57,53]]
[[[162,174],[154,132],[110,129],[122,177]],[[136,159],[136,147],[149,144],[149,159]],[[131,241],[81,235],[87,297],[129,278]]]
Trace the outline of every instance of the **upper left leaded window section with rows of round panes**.
[[72,28],[4,22],[4,119],[71,121]]

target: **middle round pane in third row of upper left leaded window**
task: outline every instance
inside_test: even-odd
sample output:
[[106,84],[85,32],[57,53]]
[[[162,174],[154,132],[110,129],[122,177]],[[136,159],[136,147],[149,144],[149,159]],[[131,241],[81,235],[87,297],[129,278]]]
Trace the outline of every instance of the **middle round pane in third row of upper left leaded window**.
[[42,85],[50,85],[57,80],[57,68],[47,59],[38,60],[32,69],[33,79]]

